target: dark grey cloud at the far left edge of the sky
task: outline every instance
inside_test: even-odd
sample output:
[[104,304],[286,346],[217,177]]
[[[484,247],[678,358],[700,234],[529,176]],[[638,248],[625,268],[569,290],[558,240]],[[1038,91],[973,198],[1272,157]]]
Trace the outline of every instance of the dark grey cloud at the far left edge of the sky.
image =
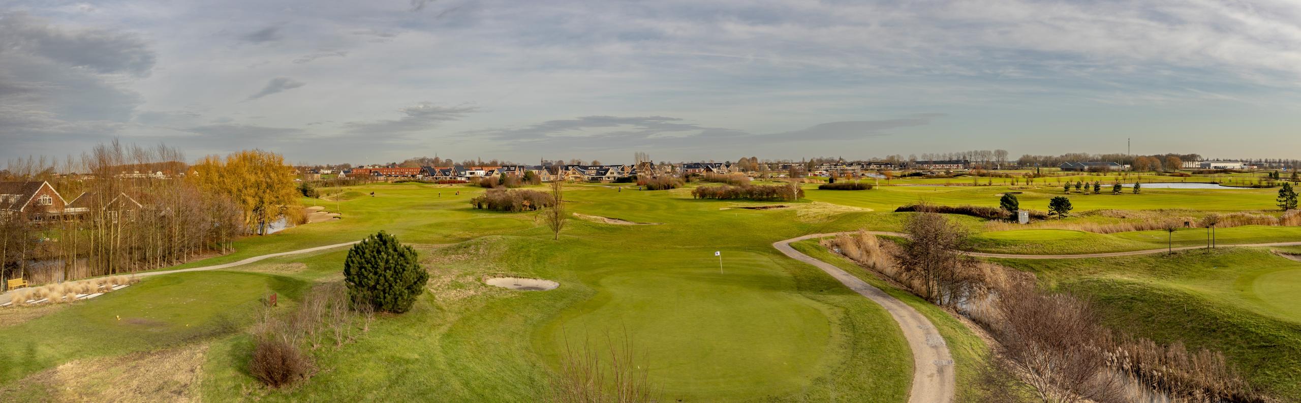
[[143,103],[125,84],[150,75],[154,64],[154,51],[135,34],[68,29],[23,13],[0,13],[4,148],[40,150],[122,130]]

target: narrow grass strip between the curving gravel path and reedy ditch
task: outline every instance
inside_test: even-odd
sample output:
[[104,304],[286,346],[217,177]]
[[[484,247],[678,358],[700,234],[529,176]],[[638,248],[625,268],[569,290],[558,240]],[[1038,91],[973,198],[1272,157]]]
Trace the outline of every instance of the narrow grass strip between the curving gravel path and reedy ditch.
[[800,240],[792,243],[791,247],[861,278],[873,287],[886,291],[886,294],[898,298],[926,316],[935,325],[935,329],[939,330],[939,335],[945,338],[945,342],[948,343],[948,352],[954,356],[954,367],[958,370],[958,402],[977,402],[977,396],[972,393],[972,385],[976,381],[977,367],[989,352],[989,348],[971,329],[967,329],[965,325],[955,320],[945,309],[928,303],[912,292],[894,287],[874,273],[869,273],[863,266],[844,259],[844,256],[827,251],[816,239]]

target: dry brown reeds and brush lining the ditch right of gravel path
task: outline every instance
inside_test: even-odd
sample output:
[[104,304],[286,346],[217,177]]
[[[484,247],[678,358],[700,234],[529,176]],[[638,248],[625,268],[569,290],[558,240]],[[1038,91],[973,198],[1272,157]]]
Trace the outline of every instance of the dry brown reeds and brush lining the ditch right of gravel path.
[[[866,231],[840,234],[821,243],[905,290],[922,295],[925,285],[904,276],[894,261],[898,248],[895,243],[881,242]],[[1092,395],[1108,400],[1115,398],[1115,381],[1125,381],[1141,385],[1149,394],[1159,393],[1170,398],[1171,403],[1220,403],[1222,399],[1268,402],[1237,374],[1220,352],[1190,352],[1177,342],[1162,346],[1149,339],[1099,330],[1103,328],[1092,313],[1089,302],[1067,294],[1039,291],[1032,273],[990,263],[980,264],[977,270],[981,270],[980,278],[985,281],[982,287],[991,291],[967,299],[958,307],[959,312],[989,330],[998,341],[995,347],[1002,348],[999,360],[1003,361],[994,365],[997,370],[1016,373],[1021,382],[1037,382],[1041,391],[1071,391],[1076,396]],[[1012,296],[1011,303],[1004,302],[1008,296]],[[1051,320],[1053,317],[1069,318],[1071,326],[1077,330],[1062,333],[1062,329],[1071,326],[1066,326],[1064,321]],[[1071,335],[1071,343],[1062,342],[1068,339],[1067,335]],[[1053,365],[1043,367],[1045,363]],[[1053,369],[1054,365],[1056,369]],[[1108,378],[1116,374],[1120,377]],[[1006,374],[986,378],[987,382],[1000,384]],[[997,389],[999,387],[990,387]],[[1133,400],[1140,394],[1142,391],[1131,390],[1129,399]]]

